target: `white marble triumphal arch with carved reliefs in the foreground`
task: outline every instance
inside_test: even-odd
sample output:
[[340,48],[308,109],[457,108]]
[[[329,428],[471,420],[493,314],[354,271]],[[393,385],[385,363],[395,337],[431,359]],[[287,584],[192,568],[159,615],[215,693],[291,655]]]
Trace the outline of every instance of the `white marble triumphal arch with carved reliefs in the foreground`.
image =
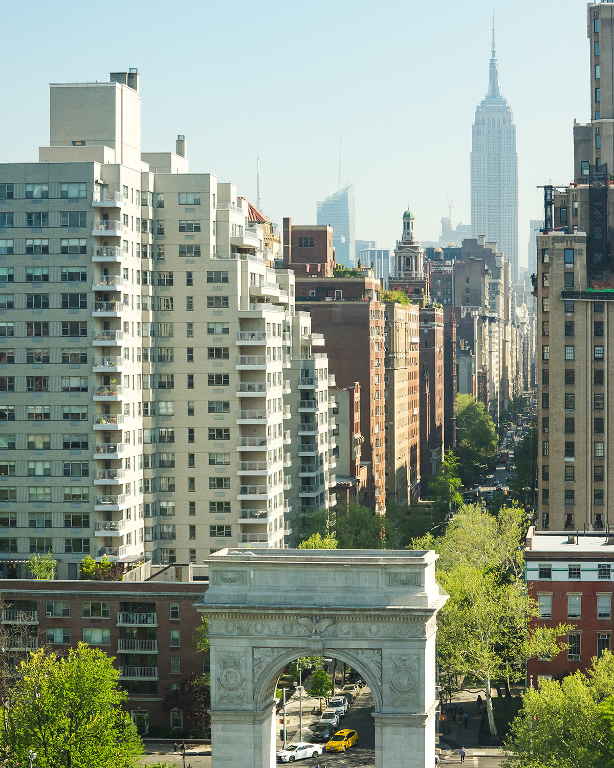
[[447,599],[436,559],[408,550],[210,555],[197,607],[209,619],[212,768],[276,765],[276,685],[301,656],[336,658],[368,684],[376,768],[431,766],[436,614]]

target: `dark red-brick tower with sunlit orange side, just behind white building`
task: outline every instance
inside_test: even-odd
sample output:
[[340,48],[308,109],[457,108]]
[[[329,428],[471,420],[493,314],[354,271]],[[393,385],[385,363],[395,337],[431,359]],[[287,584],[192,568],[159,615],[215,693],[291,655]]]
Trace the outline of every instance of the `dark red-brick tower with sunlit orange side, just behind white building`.
[[[304,237],[304,236],[303,236]],[[298,277],[296,309],[308,311],[325,338],[329,369],[341,388],[361,386],[361,461],[371,464],[365,503],[385,511],[385,321],[381,286],[371,270],[359,277]]]

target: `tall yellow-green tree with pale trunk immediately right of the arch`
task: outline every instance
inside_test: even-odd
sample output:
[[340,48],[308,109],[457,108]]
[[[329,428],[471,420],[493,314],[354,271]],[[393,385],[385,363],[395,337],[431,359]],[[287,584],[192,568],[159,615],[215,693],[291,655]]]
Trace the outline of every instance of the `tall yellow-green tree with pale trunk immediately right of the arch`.
[[517,507],[495,518],[477,507],[454,516],[440,538],[431,534],[412,548],[435,549],[437,578],[450,595],[438,615],[437,658],[444,677],[470,675],[486,690],[490,733],[497,736],[491,689],[519,680],[533,657],[553,658],[572,627],[530,627],[537,604],[523,582],[526,518]]

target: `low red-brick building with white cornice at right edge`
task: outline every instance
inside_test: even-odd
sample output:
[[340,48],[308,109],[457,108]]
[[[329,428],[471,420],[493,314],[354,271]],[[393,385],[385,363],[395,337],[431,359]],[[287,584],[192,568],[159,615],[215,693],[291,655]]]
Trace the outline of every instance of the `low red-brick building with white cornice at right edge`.
[[529,661],[529,682],[533,678],[536,686],[540,677],[560,680],[585,671],[593,657],[612,649],[614,540],[598,533],[536,534],[530,528],[524,560],[529,594],[540,611],[534,623],[574,627],[563,638],[567,650],[553,660]]

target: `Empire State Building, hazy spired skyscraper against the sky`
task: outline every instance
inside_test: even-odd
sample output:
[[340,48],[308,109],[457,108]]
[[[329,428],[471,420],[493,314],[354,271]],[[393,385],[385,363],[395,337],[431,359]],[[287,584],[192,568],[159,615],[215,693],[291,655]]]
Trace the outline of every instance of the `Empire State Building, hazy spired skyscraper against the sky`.
[[486,235],[512,266],[518,280],[518,156],[516,126],[507,99],[499,88],[499,65],[494,49],[486,98],[478,104],[471,143],[471,231]]

